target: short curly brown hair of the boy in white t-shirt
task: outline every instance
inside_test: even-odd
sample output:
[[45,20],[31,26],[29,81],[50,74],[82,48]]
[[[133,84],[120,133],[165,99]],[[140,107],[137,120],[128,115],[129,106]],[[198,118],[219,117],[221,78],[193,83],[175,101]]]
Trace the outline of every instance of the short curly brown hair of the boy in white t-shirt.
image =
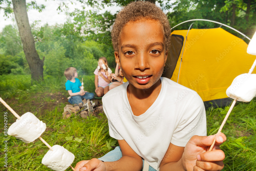
[[164,12],[155,4],[148,1],[134,1],[125,6],[117,15],[113,29],[111,31],[113,48],[119,51],[120,37],[123,27],[129,21],[137,21],[142,18],[154,19],[159,21],[163,26],[165,52],[169,50],[170,46],[170,24]]

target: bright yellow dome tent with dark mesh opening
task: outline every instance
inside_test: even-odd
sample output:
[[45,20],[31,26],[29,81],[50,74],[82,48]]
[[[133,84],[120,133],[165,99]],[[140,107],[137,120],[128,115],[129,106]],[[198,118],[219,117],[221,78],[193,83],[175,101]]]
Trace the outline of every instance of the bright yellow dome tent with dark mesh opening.
[[233,79],[255,60],[247,46],[222,28],[173,31],[163,76],[195,90],[204,102],[227,98]]

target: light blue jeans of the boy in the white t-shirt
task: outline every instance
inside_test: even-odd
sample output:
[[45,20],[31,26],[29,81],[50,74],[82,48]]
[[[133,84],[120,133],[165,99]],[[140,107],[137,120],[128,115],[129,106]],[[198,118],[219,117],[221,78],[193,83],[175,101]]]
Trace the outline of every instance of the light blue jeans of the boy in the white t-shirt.
[[[112,151],[108,152],[107,154],[105,154],[104,156],[102,156],[98,159],[103,162],[114,162],[116,160],[119,160],[121,157],[122,157],[122,152],[121,152],[120,146],[118,146],[118,147],[115,147],[115,149],[113,149]],[[144,166],[144,159],[142,159],[142,161],[143,161],[143,166]],[[153,167],[149,166],[148,171],[156,171],[156,170]]]

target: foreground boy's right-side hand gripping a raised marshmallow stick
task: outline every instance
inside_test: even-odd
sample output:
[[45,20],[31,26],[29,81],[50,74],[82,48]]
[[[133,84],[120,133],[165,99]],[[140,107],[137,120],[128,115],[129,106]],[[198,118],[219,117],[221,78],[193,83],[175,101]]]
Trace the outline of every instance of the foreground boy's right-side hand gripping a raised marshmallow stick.
[[[193,136],[185,146],[183,161],[186,170],[221,170],[224,167],[225,154],[220,150],[220,144],[226,141],[226,136],[219,133],[212,151],[208,151],[215,136]],[[195,166],[196,163],[196,166]]]

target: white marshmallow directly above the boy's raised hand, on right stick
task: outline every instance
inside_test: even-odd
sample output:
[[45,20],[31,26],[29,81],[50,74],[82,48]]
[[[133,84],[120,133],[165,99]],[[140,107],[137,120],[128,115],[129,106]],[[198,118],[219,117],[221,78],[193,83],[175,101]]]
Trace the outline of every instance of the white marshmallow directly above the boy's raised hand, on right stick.
[[256,96],[256,74],[238,75],[228,87],[228,97],[238,101],[250,102]]

